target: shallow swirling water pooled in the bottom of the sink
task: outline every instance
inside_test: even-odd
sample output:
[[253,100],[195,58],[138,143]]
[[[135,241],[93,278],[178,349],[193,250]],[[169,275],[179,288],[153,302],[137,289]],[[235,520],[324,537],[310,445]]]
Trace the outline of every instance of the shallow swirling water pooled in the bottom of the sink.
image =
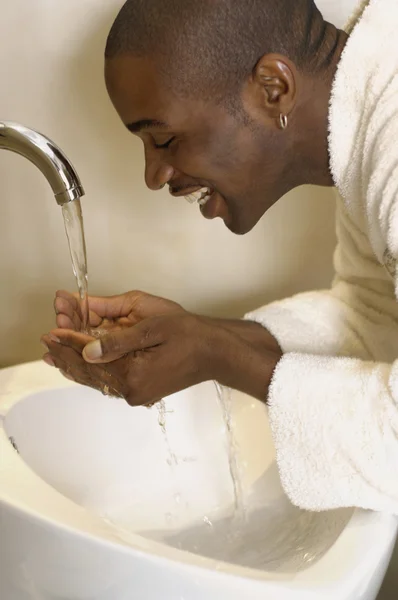
[[247,507],[245,520],[212,517],[181,531],[145,531],[147,538],[217,561],[264,571],[294,573],[324,556],[337,541],[352,511],[314,514],[279,500]]

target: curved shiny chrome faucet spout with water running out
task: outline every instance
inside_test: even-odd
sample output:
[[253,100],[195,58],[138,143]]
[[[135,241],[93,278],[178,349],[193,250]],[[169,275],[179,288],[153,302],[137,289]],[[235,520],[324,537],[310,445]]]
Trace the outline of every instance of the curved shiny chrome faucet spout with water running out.
[[17,123],[0,121],[0,150],[11,150],[30,160],[46,177],[60,206],[84,196],[72,164],[47,137]]

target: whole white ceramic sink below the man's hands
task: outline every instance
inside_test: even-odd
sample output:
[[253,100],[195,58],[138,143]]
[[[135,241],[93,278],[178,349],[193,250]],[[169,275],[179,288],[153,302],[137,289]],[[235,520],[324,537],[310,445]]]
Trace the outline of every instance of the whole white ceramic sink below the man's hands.
[[395,518],[294,508],[265,407],[234,393],[242,516],[214,384],[165,404],[163,428],[44,364],[0,371],[1,598],[376,598]]

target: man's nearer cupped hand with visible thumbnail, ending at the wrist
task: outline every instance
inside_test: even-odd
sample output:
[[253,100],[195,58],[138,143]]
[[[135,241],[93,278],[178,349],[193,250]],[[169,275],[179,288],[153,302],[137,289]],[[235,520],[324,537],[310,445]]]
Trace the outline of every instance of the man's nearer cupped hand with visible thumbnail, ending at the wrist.
[[46,361],[65,375],[137,406],[218,379],[226,335],[204,318],[173,310],[99,340],[58,329],[42,341]]

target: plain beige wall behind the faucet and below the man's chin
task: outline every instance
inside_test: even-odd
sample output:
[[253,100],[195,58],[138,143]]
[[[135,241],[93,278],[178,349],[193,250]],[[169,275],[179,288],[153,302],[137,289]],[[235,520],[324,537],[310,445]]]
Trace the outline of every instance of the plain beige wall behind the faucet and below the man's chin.
[[[197,207],[151,193],[141,145],[113,112],[102,76],[105,36],[122,0],[13,0],[2,10],[0,119],[46,133],[75,164],[84,198],[90,288],[140,288],[212,314],[328,284],[329,193],[301,190],[243,238]],[[41,174],[0,156],[0,364],[40,356],[52,298],[74,288],[61,211]]]

